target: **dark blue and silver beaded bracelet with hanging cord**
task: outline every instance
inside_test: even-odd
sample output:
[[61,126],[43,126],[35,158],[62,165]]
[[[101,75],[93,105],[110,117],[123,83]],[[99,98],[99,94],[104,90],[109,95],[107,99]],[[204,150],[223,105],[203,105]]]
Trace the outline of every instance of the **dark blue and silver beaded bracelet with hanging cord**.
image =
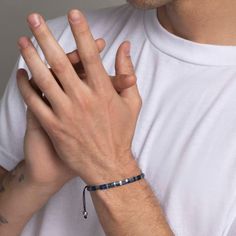
[[107,184],[101,184],[101,185],[86,185],[84,187],[84,190],[83,190],[83,216],[85,219],[87,219],[88,217],[88,212],[86,210],[86,200],[85,200],[85,190],[87,189],[88,191],[96,191],[96,190],[105,190],[105,189],[109,189],[109,188],[114,188],[114,187],[119,187],[119,186],[122,186],[122,185],[125,185],[125,184],[130,184],[130,183],[133,183],[135,181],[138,181],[140,179],[143,179],[144,178],[144,173],[141,173],[140,175],[137,175],[137,176],[134,176],[134,177],[130,177],[130,178],[127,178],[127,179],[123,179],[123,180],[120,180],[120,181],[115,181],[115,182],[110,182],[110,183],[107,183]]

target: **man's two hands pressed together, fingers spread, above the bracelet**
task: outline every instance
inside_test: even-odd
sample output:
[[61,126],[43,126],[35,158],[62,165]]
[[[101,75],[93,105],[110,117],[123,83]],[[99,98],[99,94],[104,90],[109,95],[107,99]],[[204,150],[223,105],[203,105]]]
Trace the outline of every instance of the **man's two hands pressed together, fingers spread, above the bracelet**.
[[101,184],[137,175],[131,143],[142,102],[130,43],[120,45],[116,76],[111,80],[99,55],[104,41],[93,39],[80,11],[71,10],[68,21],[77,50],[66,55],[42,16],[28,17],[51,69],[27,37],[18,41],[32,74],[29,80],[24,69],[17,72],[18,87],[28,107],[26,179],[62,185],[79,176],[87,184]]

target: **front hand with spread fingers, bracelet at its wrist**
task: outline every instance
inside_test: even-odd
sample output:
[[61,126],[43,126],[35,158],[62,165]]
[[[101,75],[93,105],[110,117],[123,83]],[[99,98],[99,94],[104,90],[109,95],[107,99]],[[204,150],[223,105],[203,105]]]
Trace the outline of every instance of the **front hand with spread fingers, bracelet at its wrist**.
[[[26,38],[19,40],[22,56],[51,108],[22,76],[22,70],[18,74],[18,86],[60,159],[86,183],[97,184],[139,172],[131,154],[131,142],[141,98],[136,84],[120,94],[116,92],[102,65],[85,17],[80,13],[80,20],[72,21],[77,13],[71,11],[69,21],[86,78],[79,78],[43,18],[34,14],[28,18],[31,30],[61,86]],[[135,79],[129,47],[125,42],[118,49],[116,75]],[[125,165],[127,172],[123,168]]]

